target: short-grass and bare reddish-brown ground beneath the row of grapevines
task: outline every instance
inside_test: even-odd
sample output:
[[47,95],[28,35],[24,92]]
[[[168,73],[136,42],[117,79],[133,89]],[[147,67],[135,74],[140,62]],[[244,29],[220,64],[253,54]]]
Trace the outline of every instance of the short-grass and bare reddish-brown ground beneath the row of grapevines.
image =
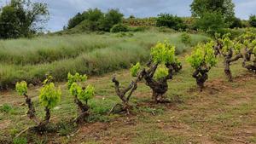
[[[66,84],[58,84],[63,95],[61,104],[53,110],[49,132],[44,135],[27,133],[15,141],[34,143],[256,143],[256,81],[255,75],[241,68],[241,61],[232,66],[234,82],[227,82],[224,66],[219,59],[212,68],[206,89],[199,92],[193,70],[180,55],[183,70],[169,82],[166,97],[171,104],[154,105],[151,91],[140,83],[132,96],[134,106],[131,115],[106,113],[119,102],[114,93],[111,78],[117,75],[122,84],[129,84],[129,71],[121,70],[90,77],[89,84],[96,87],[96,99],[88,123],[73,126],[69,121],[76,116],[73,97],[68,94]],[[38,115],[43,117],[38,104],[38,87],[29,89],[28,95],[36,102]],[[24,99],[15,91],[1,93],[0,140],[12,141],[21,130],[32,126],[26,118]],[[8,142],[8,141],[3,141]],[[1,141],[0,141],[1,143]]]

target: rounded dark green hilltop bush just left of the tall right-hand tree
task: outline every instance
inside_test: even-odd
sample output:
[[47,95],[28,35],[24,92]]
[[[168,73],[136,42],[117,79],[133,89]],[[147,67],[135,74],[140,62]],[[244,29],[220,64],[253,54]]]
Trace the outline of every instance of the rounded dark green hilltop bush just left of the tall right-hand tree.
[[156,20],[156,26],[166,26],[174,30],[186,29],[182,18],[172,14],[159,14]]

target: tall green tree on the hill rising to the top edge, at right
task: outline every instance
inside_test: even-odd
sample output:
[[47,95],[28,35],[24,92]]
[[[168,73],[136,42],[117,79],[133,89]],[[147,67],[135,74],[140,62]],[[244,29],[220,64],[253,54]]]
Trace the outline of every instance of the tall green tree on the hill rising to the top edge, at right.
[[[215,32],[218,32],[220,29],[234,27],[237,24],[235,4],[232,0],[194,0],[190,8],[192,16],[197,19],[196,26],[206,32],[212,31],[212,27],[217,26]],[[218,22],[220,22],[219,26]]]

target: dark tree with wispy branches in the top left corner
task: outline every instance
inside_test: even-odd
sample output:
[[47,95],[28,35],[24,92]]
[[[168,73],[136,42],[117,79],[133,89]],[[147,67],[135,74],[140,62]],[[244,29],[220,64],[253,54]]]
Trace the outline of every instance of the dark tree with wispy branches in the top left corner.
[[44,27],[48,15],[46,3],[11,0],[0,12],[0,37],[28,37]]

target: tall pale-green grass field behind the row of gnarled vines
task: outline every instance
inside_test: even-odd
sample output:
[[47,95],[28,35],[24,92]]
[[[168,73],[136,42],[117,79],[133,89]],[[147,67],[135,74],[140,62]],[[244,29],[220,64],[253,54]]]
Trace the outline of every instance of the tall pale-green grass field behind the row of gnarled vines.
[[[46,73],[61,82],[66,81],[68,72],[99,75],[127,68],[147,60],[148,49],[160,40],[176,45],[180,54],[190,48],[181,42],[180,34],[92,33],[0,41],[0,89],[13,88],[20,80],[39,84]],[[207,40],[202,35],[191,37],[191,45]]]

